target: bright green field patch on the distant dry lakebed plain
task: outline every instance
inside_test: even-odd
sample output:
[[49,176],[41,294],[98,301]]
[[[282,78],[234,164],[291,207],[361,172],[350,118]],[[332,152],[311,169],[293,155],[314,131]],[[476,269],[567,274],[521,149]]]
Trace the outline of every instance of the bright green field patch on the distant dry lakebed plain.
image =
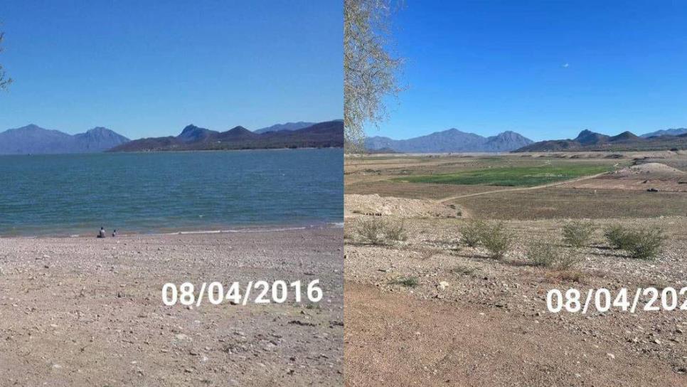
[[410,183],[434,184],[482,184],[488,186],[538,186],[570,180],[577,177],[600,174],[612,169],[605,165],[563,165],[563,166],[513,166],[460,171],[452,174],[427,176],[406,176],[394,179]]

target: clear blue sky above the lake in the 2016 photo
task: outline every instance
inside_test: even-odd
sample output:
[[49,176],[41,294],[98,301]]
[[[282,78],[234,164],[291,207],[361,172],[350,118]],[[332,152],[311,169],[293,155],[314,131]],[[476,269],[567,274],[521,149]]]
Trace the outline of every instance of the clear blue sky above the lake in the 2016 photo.
[[342,1],[3,1],[0,131],[343,117]]

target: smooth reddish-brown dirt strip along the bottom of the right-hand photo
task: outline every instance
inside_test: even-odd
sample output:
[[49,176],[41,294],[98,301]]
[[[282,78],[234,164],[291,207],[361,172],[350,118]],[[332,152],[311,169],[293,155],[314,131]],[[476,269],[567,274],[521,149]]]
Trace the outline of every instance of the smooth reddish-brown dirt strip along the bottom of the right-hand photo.
[[536,319],[346,282],[346,386],[687,386],[666,364]]

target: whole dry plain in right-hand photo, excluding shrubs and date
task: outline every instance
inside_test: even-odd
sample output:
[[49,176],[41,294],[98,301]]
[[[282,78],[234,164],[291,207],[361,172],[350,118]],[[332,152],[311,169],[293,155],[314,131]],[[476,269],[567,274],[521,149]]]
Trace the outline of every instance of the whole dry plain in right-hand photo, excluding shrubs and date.
[[[687,312],[548,312],[551,289],[687,286],[687,152],[374,155],[346,159],[348,386],[687,386]],[[370,243],[373,219],[404,237]],[[462,240],[502,221],[502,259]],[[574,267],[533,265],[563,227],[592,222]],[[604,230],[662,230],[656,258]],[[641,302],[646,302],[642,299]]]

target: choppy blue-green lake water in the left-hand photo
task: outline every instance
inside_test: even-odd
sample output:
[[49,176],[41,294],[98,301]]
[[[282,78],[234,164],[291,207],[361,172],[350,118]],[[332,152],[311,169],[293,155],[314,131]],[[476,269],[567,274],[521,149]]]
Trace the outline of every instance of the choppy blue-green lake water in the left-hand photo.
[[0,236],[344,221],[342,149],[0,156]]

